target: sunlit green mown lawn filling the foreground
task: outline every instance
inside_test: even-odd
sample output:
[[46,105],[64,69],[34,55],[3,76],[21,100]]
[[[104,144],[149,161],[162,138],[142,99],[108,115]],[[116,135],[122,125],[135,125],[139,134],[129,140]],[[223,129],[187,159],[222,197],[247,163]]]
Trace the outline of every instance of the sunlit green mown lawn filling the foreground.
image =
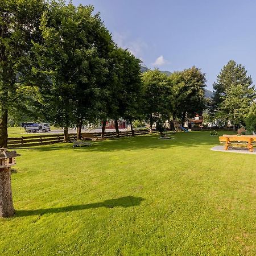
[[18,150],[0,255],[256,255],[256,156],[209,132]]

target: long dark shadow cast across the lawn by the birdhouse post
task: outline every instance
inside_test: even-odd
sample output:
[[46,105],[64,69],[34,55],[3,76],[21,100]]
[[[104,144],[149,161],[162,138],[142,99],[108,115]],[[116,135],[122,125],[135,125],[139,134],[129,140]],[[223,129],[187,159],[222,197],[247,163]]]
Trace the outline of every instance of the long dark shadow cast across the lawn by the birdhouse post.
[[93,204],[70,205],[68,207],[36,209],[36,210],[16,210],[15,217],[26,217],[26,216],[34,216],[34,215],[42,216],[44,214],[73,212],[76,210],[94,209],[94,208],[100,208],[100,207],[127,208],[127,207],[134,207],[134,206],[140,205],[142,201],[144,201],[142,197],[125,196],[125,197],[105,200],[103,202],[93,203]]

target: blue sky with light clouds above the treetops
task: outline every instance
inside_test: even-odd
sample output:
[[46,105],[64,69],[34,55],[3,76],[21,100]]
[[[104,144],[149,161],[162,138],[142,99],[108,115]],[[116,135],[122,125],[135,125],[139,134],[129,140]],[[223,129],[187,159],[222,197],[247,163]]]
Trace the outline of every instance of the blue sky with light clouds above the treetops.
[[256,81],[255,0],[73,0],[94,5],[120,47],[148,68],[206,73],[208,89],[230,59]]

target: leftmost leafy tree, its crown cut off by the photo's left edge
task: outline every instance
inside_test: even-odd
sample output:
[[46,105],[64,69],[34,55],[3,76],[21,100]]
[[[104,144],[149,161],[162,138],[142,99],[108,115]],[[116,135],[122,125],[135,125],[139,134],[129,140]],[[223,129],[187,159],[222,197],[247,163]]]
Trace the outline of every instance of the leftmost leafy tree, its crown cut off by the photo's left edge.
[[[43,0],[0,0],[0,146],[7,146],[8,112],[25,108],[31,41],[40,40]],[[31,89],[29,89],[31,90]]]

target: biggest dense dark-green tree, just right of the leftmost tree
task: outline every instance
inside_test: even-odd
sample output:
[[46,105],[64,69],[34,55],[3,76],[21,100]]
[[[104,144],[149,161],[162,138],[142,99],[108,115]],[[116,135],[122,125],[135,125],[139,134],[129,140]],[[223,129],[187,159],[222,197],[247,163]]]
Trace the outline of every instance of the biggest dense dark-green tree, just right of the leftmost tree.
[[64,127],[64,141],[69,141],[68,127],[77,125],[81,133],[82,121],[97,113],[112,39],[93,6],[71,3],[52,5],[40,30],[43,40],[34,44],[34,72],[47,77],[41,90],[47,118]]

